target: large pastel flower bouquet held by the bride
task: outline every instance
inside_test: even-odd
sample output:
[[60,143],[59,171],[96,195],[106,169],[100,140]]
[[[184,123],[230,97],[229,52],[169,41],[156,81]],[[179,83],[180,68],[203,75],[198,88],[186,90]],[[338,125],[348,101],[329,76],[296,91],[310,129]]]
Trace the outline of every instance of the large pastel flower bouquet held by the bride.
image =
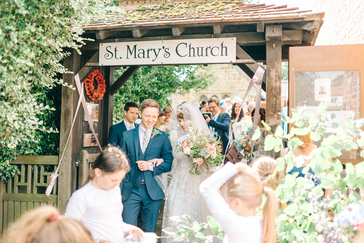
[[[188,133],[177,137],[176,132],[171,132],[171,140],[176,141],[176,152],[182,152],[189,158],[203,158],[207,171],[222,163],[221,142],[216,136],[207,135],[206,130],[199,134],[198,129],[192,125],[188,127]],[[175,139],[174,139],[175,138]],[[201,169],[196,162],[189,167],[190,174],[201,175]]]

